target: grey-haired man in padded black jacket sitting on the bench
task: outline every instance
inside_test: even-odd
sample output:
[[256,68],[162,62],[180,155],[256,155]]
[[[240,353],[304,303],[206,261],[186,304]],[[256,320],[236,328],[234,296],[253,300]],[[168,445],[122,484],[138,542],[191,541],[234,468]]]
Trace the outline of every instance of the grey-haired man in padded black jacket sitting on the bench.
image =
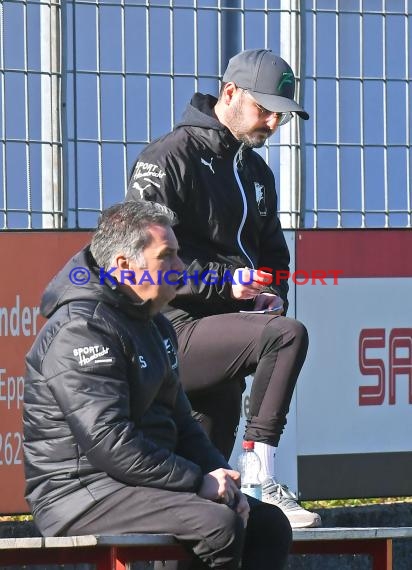
[[284,568],[287,518],[241,493],[179,381],[159,312],[183,269],[173,223],[151,202],[105,210],[47,287],[27,355],[26,498],[46,536],[170,533],[193,569]]

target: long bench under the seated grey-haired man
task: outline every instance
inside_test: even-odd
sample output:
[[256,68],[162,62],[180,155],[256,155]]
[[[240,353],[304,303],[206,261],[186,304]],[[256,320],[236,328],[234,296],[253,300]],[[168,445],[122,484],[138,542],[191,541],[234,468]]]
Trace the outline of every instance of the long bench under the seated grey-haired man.
[[[294,530],[292,554],[367,554],[373,570],[392,570],[392,541],[399,538],[412,538],[412,527]],[[0,566],[85,563],[125,570],[129,562],[188,558],[167,534],[0,539]]]

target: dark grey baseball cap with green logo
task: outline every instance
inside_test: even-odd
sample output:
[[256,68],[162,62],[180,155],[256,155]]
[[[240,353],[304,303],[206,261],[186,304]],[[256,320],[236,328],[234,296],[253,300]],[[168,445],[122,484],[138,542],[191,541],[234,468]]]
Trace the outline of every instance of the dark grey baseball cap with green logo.
[[271,50],[249,49],[233,56],[223,75],[223,82],[229,81],[247,90],[269,111],[294,111],[302,119],[309,119],[309,114],[293,99],[295,76],[290,65]]

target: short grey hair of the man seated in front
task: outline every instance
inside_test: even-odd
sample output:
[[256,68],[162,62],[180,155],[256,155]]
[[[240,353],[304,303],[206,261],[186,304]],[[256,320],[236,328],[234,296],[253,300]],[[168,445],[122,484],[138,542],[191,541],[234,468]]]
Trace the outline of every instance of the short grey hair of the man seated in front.
[[101,213],[90,251],[105,271],[113,266],[119,253],[144,268],[143,250],[152,240],[150,226],[173,226],[175,223],[174,212],[157,202],[137,200],[115,204]]

